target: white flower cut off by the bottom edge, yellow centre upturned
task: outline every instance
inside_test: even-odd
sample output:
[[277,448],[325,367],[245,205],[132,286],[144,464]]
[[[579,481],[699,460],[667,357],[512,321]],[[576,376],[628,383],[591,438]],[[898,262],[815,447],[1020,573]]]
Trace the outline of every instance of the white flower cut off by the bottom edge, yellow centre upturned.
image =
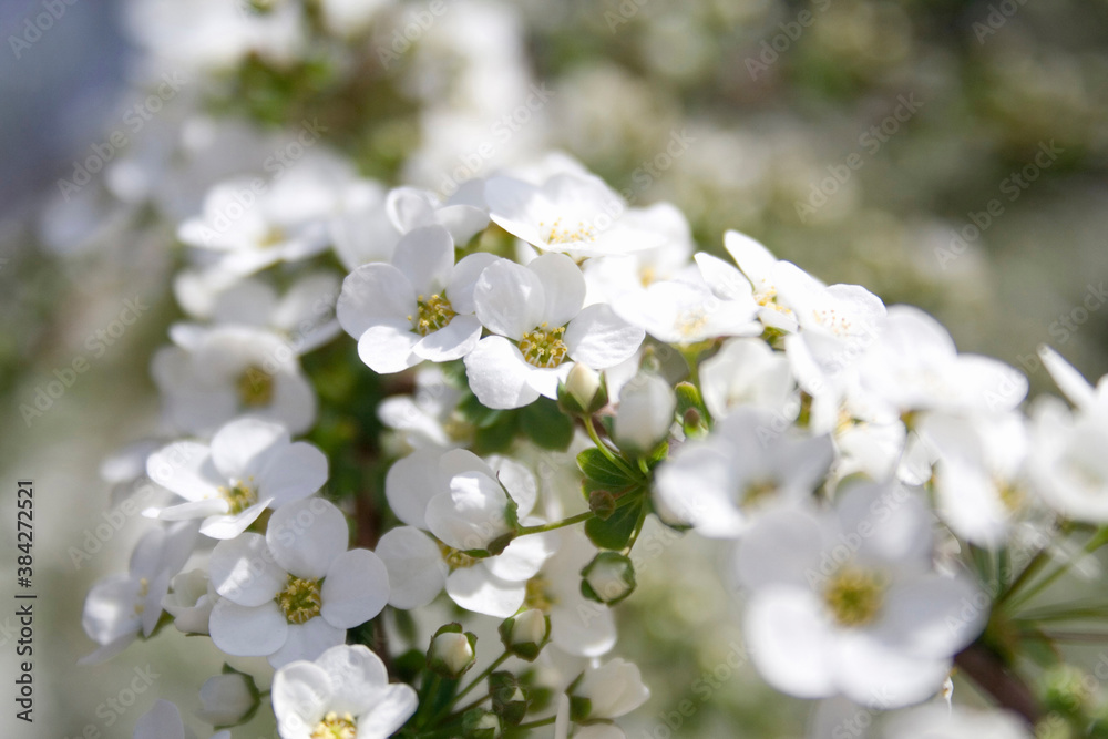
[[380,657],[361,645],[338,645],[315,661],[295,661],[274,676],[273,705],[281,739],[391,737],[416,712],[416,691],[390,685]]

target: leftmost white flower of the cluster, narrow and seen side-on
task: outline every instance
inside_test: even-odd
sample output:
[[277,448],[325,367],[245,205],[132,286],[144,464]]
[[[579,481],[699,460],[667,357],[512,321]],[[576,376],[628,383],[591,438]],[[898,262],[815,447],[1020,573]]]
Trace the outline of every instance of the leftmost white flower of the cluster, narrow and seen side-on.
[[110,575],[89,591],[81,626],[101,648],[81,659],[99,664],[141,633],[150,636],[162,616],[162,597],[196,544],[196,525],[181,522],[146,532],[135,544],[126,574]]

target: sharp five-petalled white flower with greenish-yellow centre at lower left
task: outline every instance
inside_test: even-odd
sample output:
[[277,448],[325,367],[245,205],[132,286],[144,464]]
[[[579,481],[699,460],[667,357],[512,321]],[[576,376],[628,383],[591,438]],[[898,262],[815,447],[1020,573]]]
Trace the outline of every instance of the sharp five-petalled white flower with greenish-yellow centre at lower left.
[[348,540],[342,513],[310,497],[278,509],[265,536],[219,542],[209,563],[223,596],[212,609],[215,645],[280,667],[341,644],[389,599],[384,565],[368,550],[348,551]]

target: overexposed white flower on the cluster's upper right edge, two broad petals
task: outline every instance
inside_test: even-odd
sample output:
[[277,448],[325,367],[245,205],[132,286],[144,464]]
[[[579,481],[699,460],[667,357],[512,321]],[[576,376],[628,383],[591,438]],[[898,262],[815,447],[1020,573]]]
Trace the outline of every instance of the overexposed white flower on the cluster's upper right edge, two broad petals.
[[960,355],[919,308],[893,306],[858,362],[863,403],[895,418],[911,411],[1001,413],[1027,394],[1027,378],[996,359]]

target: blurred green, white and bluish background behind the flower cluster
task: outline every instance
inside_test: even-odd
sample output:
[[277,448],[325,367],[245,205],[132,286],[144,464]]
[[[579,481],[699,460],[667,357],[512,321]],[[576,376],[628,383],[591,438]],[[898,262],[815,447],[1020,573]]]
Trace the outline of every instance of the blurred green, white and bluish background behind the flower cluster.
[[[677,204],[701,249],[737,228],[925,308],[1033,392],[1050,388],[1044,342],[1108,371],[1104,0],[8,0],[0,31],[0,519],[8,546],[14,481],[33,478],[40,594],[35,723],[3,736],[127,737],[156,697],[194,708],[218,670],[173,629],[75,666],[94,646],[84,594],[144,525],[95,535],[99,469],[160,429],[148,360],[181,316],[176,225],[309,122],[361,175],[443,194],[561,150],[635,205]],[[721,669],[741,640],[718,571],[675,543],[624,605],[618,649],[654,690],[628,737],[803,735],[806,704]],[[112,706],[136,667],[186,649]]]

